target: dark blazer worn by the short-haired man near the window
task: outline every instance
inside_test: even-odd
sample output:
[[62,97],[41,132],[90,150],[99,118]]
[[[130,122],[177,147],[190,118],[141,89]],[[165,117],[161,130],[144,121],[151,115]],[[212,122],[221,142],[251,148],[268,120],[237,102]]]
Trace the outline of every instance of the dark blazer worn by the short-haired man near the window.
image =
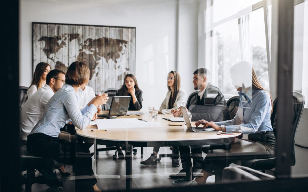
[[188,111],[192,113],[192,120],[225,121],[229,120],[229,112],[225,101],[225,96],[219,88],[211,83],[205,88],[205,92],[200,99],[198,93],[190,100]]

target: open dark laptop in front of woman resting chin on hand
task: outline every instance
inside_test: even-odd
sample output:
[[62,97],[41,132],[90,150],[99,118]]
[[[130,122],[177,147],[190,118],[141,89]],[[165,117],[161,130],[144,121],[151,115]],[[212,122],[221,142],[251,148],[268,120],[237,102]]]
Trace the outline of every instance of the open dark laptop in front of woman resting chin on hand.
[[98,114],[98,117],[115,118],[124,116],[129,107],[130,96],[114,96],[112,97],[110,109],[108,113]]

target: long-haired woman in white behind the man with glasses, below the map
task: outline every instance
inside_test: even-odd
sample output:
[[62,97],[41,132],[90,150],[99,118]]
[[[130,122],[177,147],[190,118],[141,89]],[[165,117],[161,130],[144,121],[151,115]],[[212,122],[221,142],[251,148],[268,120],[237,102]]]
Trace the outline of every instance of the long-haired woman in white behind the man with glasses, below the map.
[[39,88],[46,84],[46,76],[50,72],[51,67],[48,63],[40,62],[35,67],[32,83],[27,91],[27,96],[30,98]]

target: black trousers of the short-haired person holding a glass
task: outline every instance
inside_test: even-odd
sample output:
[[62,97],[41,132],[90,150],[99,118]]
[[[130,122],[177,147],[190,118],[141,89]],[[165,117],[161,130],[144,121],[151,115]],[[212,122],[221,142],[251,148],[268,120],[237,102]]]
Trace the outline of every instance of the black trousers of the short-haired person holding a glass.
[[[30,154],[37,157],[45,157],[54,159],[60,163],[76,166],[75,176],[89,175],[87,179],[76,180],[76,184],[80,186],[76,188],[76,191],[80,188],[93,190],[93,185],[97,183],[92,170],[92,159],[91,157],[77,158],[75,163],[70,162],[69,159],[59,158],[60,151],[60,139],[51,137],[43,133],[34,133],[28,135],[27,139],[27,150]],[[50,173],[52,174],[52,172]]]

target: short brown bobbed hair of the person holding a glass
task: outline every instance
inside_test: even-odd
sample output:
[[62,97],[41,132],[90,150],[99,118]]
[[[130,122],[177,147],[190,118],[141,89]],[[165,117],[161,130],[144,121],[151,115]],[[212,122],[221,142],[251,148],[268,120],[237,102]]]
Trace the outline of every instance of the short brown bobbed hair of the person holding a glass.
[[65,83],[71,86],[80,86],[84,83],[87,83],[89,79],[89,67],[83,62],[75,61],[72,62],[67,69]]

